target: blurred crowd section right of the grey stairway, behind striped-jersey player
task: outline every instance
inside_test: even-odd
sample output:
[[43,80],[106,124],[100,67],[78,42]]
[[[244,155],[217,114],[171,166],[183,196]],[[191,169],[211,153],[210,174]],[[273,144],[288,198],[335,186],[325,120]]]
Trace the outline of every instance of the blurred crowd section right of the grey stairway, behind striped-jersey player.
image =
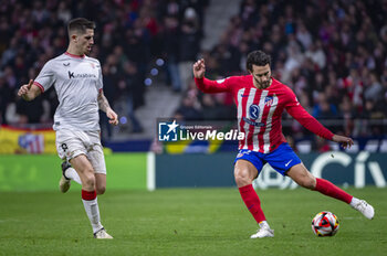
[[[272,56],[272,75],[331,130],[354,137],[387,132],[386,0],[243,0],[219,44],[202,51],[208,78],[247,74],[247,54]],[[229,95],[203,95],[194,83],[176,114],[234,119]],[[289,116],[284,117],[286,122]],[[310,135],[289,118],[284,134]]]

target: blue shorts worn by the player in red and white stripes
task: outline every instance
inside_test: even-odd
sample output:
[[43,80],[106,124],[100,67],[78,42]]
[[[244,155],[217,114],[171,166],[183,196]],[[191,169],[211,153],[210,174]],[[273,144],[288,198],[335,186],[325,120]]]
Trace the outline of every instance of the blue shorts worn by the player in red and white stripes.
[[301,163],[301,159],[286,142],[280,145],[270,153],[261,153],[248,149],[241,149],[239,150],[233,163],[236,164],[238,160],[247,160],[251,162],[257,168],[258,174],[261,172],[262,167],[265,163],[269,163],[282,175],[286,175],[286,171],[291,169],[291,167]]

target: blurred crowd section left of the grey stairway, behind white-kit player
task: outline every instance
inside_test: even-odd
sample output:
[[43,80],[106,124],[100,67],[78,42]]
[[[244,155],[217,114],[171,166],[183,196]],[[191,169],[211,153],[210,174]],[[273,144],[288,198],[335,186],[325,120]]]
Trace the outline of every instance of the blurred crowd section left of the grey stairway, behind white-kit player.
[[[53,88],[31,103],[18,88],[44,63],[65,52],[66,23],[95,21],[90,56],[102,63],[104,93],[132,132],[142,131],[135,110],[145,104],[146,76],[156,58],[166,63],[167,81],[180,92],[191,76],[202,36],[208,0],[0,0],[0,124],[52,124],[57,99]],[[188,66],[188,71],[185,71]],[[111,127],[102,116],[107,136]]]

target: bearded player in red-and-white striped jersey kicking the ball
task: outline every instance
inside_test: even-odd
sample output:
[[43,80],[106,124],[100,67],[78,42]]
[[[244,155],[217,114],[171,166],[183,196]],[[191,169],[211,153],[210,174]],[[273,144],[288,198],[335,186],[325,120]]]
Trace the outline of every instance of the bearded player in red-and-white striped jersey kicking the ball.
[[245,136],[239,141],[234,178],[245,206],[260,227],[251,238],[274,236],[252,186],[252,181],[265,163],[282,175],[290,177],[299,185],[341,200],[367,218],[373,218],[375,211],[370,204],[352,196],[327,180],[313,177],[307,171],[282,134],[282,113],[286,110],[306,129],[338,142],[344,148],[351,147],[353,140],[332,134],[300,105],[291,88],[271,76],[270,55],[262,51],[251,52],[247,58],[247,70],[250,75],[210,81],[205,77],[205,60],[194,64],[195,82],[200,90],[210,94],[231,93],[237,104],[238,128]]

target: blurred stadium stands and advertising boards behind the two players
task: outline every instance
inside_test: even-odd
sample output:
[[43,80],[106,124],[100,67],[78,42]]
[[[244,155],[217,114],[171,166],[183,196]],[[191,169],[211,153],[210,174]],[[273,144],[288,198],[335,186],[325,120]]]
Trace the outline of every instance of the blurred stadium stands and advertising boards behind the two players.
[[[25,198],[56,193],[61,160],[51,129],[55,93],[50,89],[25,103],[17,92],[48,60],[65,51],[65,23],[84,17],[96,22],[91,56],[103,65],[104,93],[121,117],[121,125],[111,127],[101,115],[107,188],[113,193],[234,188],[237,143],[221,143],[213,150],[209,143],[190,141],[174,148],[157,141],[157,118],[233,124],[230,95],[198,92],[191,65],[205,57],[207,77],[213,79],[245,74],[247,53],[262,49],[273,57],[273,76],[295,92],[305,109],[334,132],[355,140],[355,147],[344,151],[285,115],[284,135],[305,164],[341,186],[368,186],[360,191],[367,194],[372,188],[376,198],[385,200],[386,0],[231,0],[227,4],[221,0],[2,0],[0,13],[0,193],[4,196],[15,191],[27,192]],[[263,173],[255,188],[296,188],[269,169]],[[175,199],[175,192],[160,193]],[[7,202],[2,198],[3,210],[11,205]],[[0,213],[7,218],[7,212]],[[386,225],[385,218],[381,224]]]

